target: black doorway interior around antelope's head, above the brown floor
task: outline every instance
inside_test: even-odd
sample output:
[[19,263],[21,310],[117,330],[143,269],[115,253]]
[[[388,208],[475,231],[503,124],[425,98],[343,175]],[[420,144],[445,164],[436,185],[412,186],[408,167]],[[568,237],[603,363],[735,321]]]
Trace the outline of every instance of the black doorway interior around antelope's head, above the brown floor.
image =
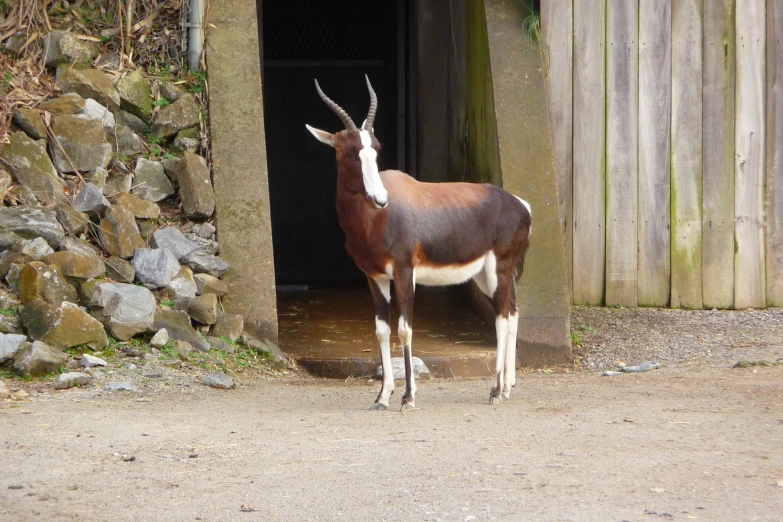
[[379,168],[406,167],[398,145],[405,132],[407,2],[258,3],[277,285],[364,282],[337,221],[334,152],[305,124],[329,132],[343,128],[318,97],[317,79],[361,126],[369,108],[367,74],[379,99]]

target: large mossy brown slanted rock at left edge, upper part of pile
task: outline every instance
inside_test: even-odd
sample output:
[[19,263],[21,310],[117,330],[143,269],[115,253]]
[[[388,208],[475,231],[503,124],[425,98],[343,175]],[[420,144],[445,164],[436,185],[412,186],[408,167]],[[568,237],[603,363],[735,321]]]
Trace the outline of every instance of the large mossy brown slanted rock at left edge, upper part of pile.
[[46,140],[34,140],[24,132],[15,132],[0,147],[0,158],[13,179],[28,188],[42,203],[65,200],[65,183],[46,151]]

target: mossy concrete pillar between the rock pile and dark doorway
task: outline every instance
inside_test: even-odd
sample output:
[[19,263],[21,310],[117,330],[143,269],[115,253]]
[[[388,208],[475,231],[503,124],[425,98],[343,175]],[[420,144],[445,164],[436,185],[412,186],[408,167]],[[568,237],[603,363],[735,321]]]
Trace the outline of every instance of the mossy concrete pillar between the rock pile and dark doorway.
[[225,307],[245,318],[251,334],[277,342],[256,3],[213,2],[209,22],[205,50],[217,233],[220,255],[231,263]]

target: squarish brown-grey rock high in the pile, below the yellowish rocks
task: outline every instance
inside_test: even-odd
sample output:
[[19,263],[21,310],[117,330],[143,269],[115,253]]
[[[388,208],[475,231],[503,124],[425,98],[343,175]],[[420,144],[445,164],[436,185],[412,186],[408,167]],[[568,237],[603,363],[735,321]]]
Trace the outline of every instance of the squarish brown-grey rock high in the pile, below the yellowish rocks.
[[98,121],[77,116],[55,116],[52,118],[52,134],[71,159],[68,161],[60,147],[52,145],[54,163],[61,172],[106,168],[111,160],[111,145],[106,141],[103,125]]

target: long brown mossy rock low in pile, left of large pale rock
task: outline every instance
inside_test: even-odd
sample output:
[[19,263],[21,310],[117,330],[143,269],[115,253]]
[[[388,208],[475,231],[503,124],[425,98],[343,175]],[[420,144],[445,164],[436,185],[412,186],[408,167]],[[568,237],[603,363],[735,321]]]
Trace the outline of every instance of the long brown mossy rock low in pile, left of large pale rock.
[[24,307],[19,319],[27,335],[60,350],[81,344],[102,350],[109,344],[103,325],[73,303],[57,307],[35,299]]

